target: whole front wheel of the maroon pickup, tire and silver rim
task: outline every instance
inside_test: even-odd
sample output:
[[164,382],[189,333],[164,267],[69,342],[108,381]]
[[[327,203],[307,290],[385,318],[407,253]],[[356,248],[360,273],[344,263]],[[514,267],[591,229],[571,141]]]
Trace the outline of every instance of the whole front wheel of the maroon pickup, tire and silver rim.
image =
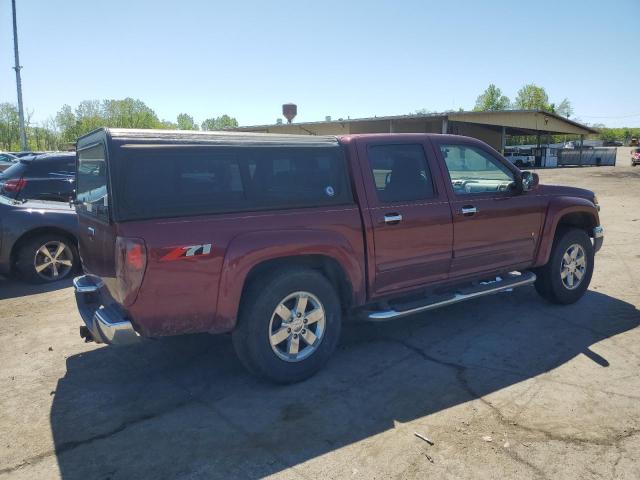
[[550,302],[574,303],[589,288],[593,262],[593,245],[586,232],[562,229],[554,240],[549,262],[537,271],[536,290]]

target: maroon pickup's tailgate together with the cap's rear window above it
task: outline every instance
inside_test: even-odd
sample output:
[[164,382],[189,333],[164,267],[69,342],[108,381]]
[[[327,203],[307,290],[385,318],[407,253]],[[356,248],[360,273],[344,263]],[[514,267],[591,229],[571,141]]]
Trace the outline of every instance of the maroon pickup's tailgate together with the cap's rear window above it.
[[76,211],[78,243],[85,272],[115,278],[115,228],[110,223],[108,168],[102,142],[78,149]]

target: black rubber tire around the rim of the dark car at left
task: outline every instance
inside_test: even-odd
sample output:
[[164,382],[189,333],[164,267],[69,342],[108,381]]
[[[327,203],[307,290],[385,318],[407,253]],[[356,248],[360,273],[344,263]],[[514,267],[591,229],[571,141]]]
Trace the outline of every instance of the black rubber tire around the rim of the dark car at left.
[[[35,260],[38,250],[45,245],[52,245],[55,243],[61,243],[68,249],[62,252],[64,256],[61,260],[65,262],[70,261],[71,267],[68,265],[60,264],[60,270],[58,270],[58,276],[53,274],[53,269],[48,268],[44,273],[38,273],[36,271]],[[51,283],[65,278],[69,278],[78,269],[79,257],[78,249],[75,242],[68,237],[59,235],[57,233],[45,233],[37,235],[35,237],[24,240],[18,245],[18,250],[15,256],[14,271],[18,278],[28,283]],[[57,267],[56,267],[57,268]]]

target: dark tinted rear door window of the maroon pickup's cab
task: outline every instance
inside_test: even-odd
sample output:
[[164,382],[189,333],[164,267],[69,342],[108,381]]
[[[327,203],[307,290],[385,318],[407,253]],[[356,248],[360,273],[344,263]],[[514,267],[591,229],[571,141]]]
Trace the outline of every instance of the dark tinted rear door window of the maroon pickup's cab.
[[381,202],[434,197],[433,181],[422,145],[374,145],[369,166]]

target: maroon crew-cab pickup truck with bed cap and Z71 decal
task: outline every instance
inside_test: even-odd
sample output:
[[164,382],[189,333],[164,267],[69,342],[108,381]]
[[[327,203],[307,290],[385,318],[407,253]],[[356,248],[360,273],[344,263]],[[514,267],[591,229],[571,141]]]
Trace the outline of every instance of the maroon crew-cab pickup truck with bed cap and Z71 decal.
[[101,129],[77,151],[81,335],[231,332],[276,382],[318,371],[346,318],[529,284],[575,302],[603,242],[592,192],[461,136]]

